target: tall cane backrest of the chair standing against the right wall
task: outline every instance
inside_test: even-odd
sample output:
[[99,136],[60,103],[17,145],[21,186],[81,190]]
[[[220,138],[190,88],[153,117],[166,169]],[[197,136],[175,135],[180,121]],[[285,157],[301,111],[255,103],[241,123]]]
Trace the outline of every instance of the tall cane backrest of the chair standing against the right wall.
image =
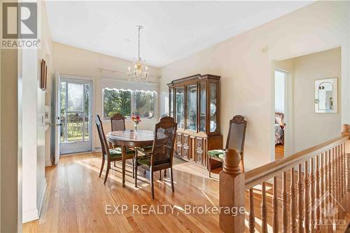
[[235,115],[230,120],[230,129],[228,131],[227,148],[239,150],[241,155],[244,152],[244,140],[246,139],[246,120],[241,115]]

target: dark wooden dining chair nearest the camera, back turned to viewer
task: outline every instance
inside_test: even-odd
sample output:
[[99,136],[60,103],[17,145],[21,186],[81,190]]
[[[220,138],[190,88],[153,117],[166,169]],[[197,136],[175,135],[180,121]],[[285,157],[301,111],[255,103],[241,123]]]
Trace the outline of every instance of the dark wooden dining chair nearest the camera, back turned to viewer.
[[151,153],[144,156],[135,157],[135,187],[137,187],[137,168],[142,167],[150,172],[151,176],[151,192],[154,199],[154,182],[153,173],[170,169],[172,181],[172,192],[174,192],[174,177],[173,177],[173,156],[174,143],[177,130],[177,123],[174,118],[164,117],[155,124],[155,139]]

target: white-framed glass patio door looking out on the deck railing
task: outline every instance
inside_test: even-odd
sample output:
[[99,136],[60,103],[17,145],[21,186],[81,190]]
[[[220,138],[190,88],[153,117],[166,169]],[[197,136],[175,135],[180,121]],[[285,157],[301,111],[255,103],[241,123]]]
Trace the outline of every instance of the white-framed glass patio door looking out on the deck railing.
[[90,151],[92,148],[92,88],[89,80],[61,79],[61,154]]

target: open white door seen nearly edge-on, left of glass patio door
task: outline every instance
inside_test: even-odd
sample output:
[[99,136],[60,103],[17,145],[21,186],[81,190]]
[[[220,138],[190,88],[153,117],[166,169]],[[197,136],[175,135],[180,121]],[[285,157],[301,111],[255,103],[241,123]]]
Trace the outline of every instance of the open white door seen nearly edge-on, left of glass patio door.
[[52,161],[53,164],[58,164],[59,161],[59,138],[61,137],[61,105],[60,102],[60,85],[61,78],[59,78],[59,73],[56,73],[55,80],[55,124],[53,127],[55,129],[54,132],[54,141],[55,141],[55,157]]

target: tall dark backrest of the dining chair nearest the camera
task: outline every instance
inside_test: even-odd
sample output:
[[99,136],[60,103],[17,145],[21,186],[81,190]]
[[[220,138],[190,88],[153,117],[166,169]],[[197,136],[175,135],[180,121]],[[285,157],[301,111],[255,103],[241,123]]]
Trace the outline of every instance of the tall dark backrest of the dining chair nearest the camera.
[[160,118],[159,122],[155,124],[155,139],[151,155],[153,166],[172,164],[176,130],[177,123],[172,117]]

